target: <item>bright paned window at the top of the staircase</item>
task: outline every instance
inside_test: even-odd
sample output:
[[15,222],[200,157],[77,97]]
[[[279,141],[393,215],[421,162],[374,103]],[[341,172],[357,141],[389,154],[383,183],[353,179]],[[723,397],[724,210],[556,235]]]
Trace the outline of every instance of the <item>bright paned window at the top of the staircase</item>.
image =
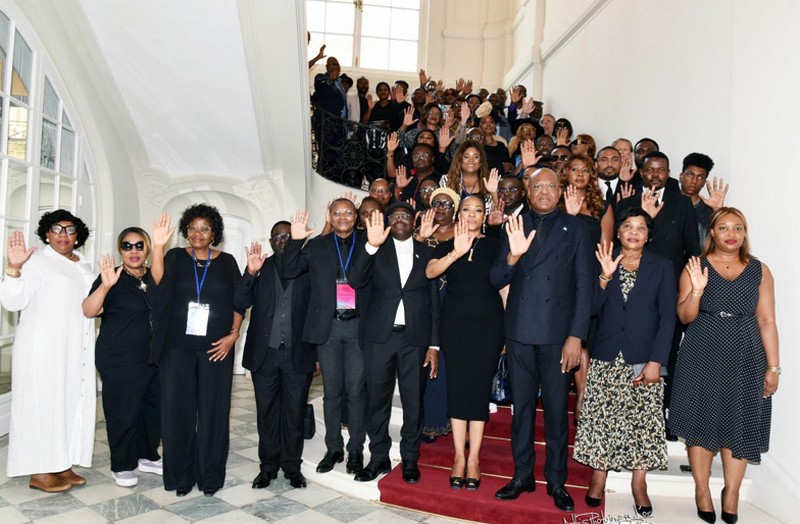
[[307,0],[309,55],[322,44],[345,67],[418,69],[420,0]]

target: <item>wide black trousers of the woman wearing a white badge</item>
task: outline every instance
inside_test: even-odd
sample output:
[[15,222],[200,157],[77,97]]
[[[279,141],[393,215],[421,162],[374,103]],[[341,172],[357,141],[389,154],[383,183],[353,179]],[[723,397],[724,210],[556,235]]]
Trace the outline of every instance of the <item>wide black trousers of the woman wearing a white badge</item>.
[[161,370],[164,489],[220,489],[228,460],[233,355],[170,348]]

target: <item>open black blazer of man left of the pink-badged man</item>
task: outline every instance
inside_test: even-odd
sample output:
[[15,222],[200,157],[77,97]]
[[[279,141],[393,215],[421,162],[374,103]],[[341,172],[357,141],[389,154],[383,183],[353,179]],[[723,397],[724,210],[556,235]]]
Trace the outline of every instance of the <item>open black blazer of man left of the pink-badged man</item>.
[[[278,270],[275,259],[270,257],[256,276],[247,271],[233,292],[233,305],[239,309],[253,307],[250,326],[244,344],[242,365],[250,371],[258,371],[267,356],[267,344],[275,316],[275,276]],[[311,293],[310,278],[304,273],[292,284],[292,366],[297,373],[310,373],[316,367],[317,351],[313,344],[303,342],[303,325],[308,311]]]

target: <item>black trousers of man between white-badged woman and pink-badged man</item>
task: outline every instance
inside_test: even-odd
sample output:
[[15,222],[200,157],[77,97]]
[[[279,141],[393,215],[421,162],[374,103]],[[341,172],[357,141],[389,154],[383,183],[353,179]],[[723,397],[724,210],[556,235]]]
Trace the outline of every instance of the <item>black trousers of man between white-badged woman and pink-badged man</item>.
[[258,413],[258,459],[262,473],[300,471],[303,420],[314,373],[298,373],[286,346],[267,348],[261,368],[252,372]]

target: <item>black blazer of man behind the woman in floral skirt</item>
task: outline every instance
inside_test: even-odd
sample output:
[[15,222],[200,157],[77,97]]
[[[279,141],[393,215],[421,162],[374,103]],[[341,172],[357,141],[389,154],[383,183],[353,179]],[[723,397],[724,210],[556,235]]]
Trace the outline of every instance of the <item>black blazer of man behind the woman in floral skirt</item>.
[[[624,210],[641,206],[641,192],[620,201],[615,208],[615,229],[619,227],[619,217]],[[700,254],[697,215],[692,199],[674,191],[664,191],[662,206],[663,209],[653,220],[653,231],[647,240],[647,247],[672,262],[677,281],[689,258]]]

